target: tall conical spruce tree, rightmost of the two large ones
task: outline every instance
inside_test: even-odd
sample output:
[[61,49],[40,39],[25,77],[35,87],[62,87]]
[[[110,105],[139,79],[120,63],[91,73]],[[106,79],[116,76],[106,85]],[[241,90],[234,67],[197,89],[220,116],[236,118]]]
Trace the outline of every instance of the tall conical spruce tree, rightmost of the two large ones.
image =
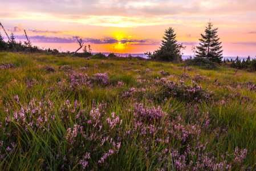
[[208,23],[208,26],[205,29],[205,35],[201,34],[202,38],[199,39],[200,43],[197,46],[196,56],[208,58],[212,62],[221,63],[222,46],[219,42],[220,38],[218,38],[217,30],[218,28],[212,28],[212,22]]

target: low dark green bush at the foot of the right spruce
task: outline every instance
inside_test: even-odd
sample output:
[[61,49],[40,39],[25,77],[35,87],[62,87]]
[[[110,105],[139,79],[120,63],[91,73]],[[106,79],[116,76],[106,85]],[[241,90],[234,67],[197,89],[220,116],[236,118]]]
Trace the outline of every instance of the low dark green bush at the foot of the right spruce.
[[203,66],[208,69],[217,67],[215,63],[211,62],[209,59],[202,57],[195,57],[193,59],[187,59],[186,64],[188,66]]

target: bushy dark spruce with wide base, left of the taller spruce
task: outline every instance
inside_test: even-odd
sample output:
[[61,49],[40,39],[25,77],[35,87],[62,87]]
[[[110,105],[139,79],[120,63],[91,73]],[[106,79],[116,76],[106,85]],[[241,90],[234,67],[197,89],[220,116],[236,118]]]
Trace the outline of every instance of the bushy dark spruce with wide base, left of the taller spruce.
[[162,36],[164,40],[162,40],[162,44],[159,50],[153,52],[145,53],[149,58],[153,60],[160,61],[174,61],[181,60],[182,52],[185,47],[182,44],[178,44],[176,40],[176,34],[174,33],[174,29],[169,27],[165,30],[164,36]]

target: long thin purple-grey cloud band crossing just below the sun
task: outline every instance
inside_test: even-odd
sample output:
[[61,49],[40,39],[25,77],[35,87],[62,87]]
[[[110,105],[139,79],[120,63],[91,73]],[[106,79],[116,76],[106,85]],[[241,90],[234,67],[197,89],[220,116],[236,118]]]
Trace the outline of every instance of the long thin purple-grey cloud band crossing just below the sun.
[[[17,39],[26,39],[25,35],[18,35],[15,36]],[[80,36],[78,36],[80,38]],[[33,43],[76,43],[76,37],[73,36],[72,38],[66,37],[51,37],[47,35],[35,35],[29,36],[29,39]],[[159,44],[160,42],[156,42],[153,40],[129,40],[129,39],[88,39],[82,38],[84,43],[92,43],[92,44]]]

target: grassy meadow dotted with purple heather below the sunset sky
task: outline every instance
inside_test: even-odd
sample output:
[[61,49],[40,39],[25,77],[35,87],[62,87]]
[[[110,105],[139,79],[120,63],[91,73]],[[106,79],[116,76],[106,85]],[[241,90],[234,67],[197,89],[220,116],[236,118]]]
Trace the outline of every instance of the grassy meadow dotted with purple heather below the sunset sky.
[[0,67],[0,170],[256,170],[255,72],[7,52]]

